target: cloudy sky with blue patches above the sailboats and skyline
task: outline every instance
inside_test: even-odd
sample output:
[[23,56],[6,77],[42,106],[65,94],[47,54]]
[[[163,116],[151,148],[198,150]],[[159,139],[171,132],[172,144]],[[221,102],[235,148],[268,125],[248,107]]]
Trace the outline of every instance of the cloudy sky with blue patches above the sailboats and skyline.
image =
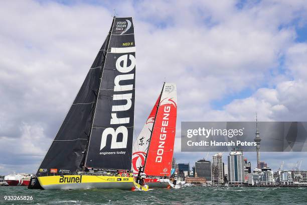
[[[135,135],[163,82],[177,84],[182,121],[306,121],[306,1],[6,1],[0,8],[0,175],[36,172],[116,10],[132,16]],[[260,131],[261,133],[261,131]],[[264,136],[265,137],[265,136]],[[209,153],[209,159],[214,153]],[[223,153],[226,162],[228,153]],[[244,153],[255,166],[256,154]],[[291,169],[306,152],[261,153]]]

